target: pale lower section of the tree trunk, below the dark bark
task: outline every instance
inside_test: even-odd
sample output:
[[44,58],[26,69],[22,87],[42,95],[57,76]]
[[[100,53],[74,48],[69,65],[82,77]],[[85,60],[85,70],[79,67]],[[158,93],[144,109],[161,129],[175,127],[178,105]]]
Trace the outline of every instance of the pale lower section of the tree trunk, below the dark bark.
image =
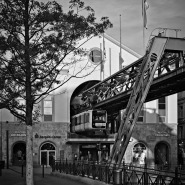
[[26,126],[26,185],[33,185],[33,129]]

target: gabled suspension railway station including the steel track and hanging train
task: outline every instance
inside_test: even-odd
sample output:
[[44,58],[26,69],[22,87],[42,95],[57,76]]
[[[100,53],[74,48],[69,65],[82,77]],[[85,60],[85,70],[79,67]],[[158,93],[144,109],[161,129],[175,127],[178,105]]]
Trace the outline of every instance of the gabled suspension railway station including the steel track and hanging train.
[[[143,57],[121,45],[121,67],[119,42],[108,35],[84,47],[88,53],[80,65],[88,63],[86,72],[93,72],[72,78],[39,105],[34,165],[50,165],[52,159],[147,163],[154,168],[185,165],[185,40],[151,35]],[[1,136],[6,163],[26,160],[25,125],[4,109]]]

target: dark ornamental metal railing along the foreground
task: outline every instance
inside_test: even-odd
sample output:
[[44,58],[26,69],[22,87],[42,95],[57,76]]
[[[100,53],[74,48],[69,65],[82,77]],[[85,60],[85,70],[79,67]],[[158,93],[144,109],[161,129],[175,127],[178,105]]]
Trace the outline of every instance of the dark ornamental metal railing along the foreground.
[[87,177],[115,185],[183,185],[185,174],[175,170],[158,170],[144,166],[122,164],[120,168],[96,161],[54,161],[52,171]]

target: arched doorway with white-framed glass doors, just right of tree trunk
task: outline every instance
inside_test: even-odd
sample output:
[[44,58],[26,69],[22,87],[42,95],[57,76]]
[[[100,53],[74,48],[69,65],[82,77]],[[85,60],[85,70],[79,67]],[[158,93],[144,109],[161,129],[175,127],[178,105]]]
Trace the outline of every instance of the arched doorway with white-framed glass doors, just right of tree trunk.
[[40,148],[40,165],[51,166],[56,159],[56,148],[52,143],[44,143]]

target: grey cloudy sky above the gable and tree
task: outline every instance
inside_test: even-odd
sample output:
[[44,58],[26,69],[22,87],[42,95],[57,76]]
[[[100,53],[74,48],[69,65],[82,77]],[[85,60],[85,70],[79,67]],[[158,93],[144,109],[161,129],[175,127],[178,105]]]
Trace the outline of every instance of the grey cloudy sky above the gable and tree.
[[[47,2],[47,0],[42,0]],[[150,34],[156,28],[181,29],[179,37],[185,38],[185,0],[147,0],[147,29],[143,36],[142,0],[82,0],[85,5],[95,11],[97,20],[107,16],[113,28],[106,30],[106,34],[120,41],[122,44],[140,55],[144,54],[143,45],[147,45]],[[69,0],[57,0],[68,10]],[[154,30],[153,33],[156,33]],[[175,31],[170,32],[175,36]],[[144,41],[144,44],[143,44]]]

